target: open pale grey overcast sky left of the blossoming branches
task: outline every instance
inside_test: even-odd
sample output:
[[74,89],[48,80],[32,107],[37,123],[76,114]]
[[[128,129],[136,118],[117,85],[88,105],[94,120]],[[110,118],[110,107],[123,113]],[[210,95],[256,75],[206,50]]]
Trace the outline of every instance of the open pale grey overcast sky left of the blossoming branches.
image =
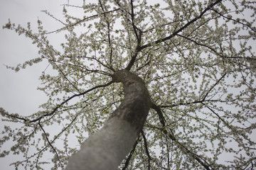
[[[73,0],[80,1],[80,0]],[[82,2],[82,1],[80,1]],[[1,0],[0,6],[0,107],[9,113],[30,115],[38,111],[38,106],[44,103],[47,98],[43,92],[36,90],[41,81],[38,77],[47,67],[47,63],[36,64],[27,67],[20,72],[6,69],[5,65],[16,66],[26,60],[38,57],[36,45],[31,43],[29,38],[23,35],[18,36],[11,30],[2,29],[2,26],[11,19],[12,23],[21,24],[31,22],[33,28],[37,27],[37,19],[40,18],[43,24],[50,30],[60,27],[52,18],[46,16],[41,10],[48,10],[56,17],[62,16],[63,6],[68,0]],[[58,41],[56,40],[56,44]],[[0,132],[3,126],[0,125]],[[1,158],[0,169],[10,169],[10,157]],[[14,169],[14,166],[12,166]]]

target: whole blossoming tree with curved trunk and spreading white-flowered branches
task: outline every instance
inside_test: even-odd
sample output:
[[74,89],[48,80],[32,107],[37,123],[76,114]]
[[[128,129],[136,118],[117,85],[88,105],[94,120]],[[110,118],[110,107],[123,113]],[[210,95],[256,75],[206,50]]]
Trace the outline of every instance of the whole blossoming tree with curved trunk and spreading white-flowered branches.
[[[0,109],[1,145],[15,142],[1,157],[23,154],[14,166],[30,169],[255,168],[255,6],[98,0],[65,5],[65,21],[46,11],[63,23],[52,32],[39,20],[37,33],[9,21],[4,28],[31,38],[40,54],[10,68],[46,60],[55,72],[40,77],[41,111]],[[66,41],[56,50],[47,36],[60,32]]]

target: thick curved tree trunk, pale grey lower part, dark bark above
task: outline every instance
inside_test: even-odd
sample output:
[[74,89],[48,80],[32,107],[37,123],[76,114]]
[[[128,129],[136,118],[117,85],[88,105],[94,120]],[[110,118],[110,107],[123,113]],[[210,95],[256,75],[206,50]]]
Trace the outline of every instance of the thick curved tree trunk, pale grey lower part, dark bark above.
[[124,101],[95,135],[70,157],[66,170],[113,170],[129,154],[142,130],[150,108],[150,96],[144,81],[123,69],[112,75],[122,82]]

